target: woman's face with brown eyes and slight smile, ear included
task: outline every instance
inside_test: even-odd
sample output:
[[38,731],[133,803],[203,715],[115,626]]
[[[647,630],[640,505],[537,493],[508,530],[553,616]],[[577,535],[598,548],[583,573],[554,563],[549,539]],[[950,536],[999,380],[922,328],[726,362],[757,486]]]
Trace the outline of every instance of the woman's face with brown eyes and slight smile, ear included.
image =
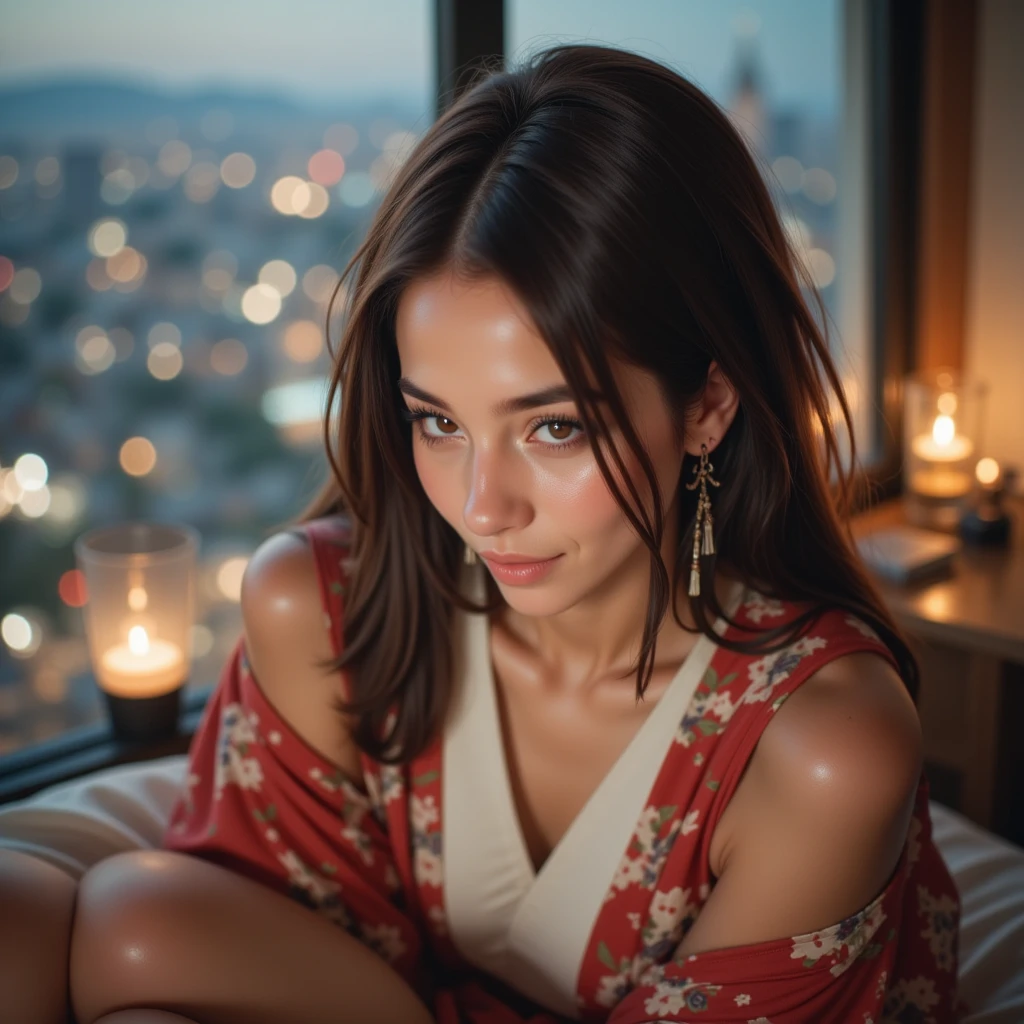
[[[510,291],[496,280],[467,284],[447,272],[421,279],[401,297],[396,337],[407,409],[430,414],[413,424],[413,452],[434,508],[477,554],[561,556],[538,583],[498,581],[512,607],[552,614],[601,589],[627,562],[647,565],[647,549],[605,484],[571,398],[499,408],[565,387]],[[668,513],[683,459],[671,411],[652,376],[615,367],[615,377]],[[617,431],[613,436],[649,502],[639,464]],[[615,472],[610,454],[606,461]]]

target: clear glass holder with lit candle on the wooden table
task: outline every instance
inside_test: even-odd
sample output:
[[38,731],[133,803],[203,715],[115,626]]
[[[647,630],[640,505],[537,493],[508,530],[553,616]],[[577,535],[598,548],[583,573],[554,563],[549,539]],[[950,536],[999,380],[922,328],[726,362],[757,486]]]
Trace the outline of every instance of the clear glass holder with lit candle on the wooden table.
[[914,525],[956,528],[974,487],[984,402],[983,385],[950,371],[904,381],[904,505]]

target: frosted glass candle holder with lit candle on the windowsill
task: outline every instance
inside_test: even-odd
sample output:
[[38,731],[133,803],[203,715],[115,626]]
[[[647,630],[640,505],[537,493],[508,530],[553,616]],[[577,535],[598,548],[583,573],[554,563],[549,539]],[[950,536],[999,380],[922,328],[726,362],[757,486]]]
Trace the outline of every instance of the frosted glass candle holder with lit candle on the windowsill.
[[101,526],[75,542],[92,670],[120,738],[177,730],[198,551],[190,526],[143,521]]

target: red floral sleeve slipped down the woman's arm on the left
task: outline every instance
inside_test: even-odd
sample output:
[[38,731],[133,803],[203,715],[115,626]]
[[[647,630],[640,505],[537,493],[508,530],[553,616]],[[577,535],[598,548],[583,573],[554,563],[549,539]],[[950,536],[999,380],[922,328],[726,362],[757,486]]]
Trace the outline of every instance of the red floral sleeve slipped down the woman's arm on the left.
[[364,788],[281,717],[240,638],[193,738],[163,846],[326,915],[419,988],[419,930],[407,913],[386,816]]

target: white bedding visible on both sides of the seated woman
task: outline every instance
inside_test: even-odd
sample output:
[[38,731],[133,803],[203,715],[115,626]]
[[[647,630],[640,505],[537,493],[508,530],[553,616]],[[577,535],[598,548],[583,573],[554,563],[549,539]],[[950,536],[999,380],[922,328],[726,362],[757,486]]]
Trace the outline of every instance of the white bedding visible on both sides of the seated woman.
[[[75,878],[122,850],[158,847],[186,758],[119,765],[0,806],[0,847]],[[1024,1024],[1024,850],[932,803],[935,839],[963,903],[961,992],[969,1024]]]

